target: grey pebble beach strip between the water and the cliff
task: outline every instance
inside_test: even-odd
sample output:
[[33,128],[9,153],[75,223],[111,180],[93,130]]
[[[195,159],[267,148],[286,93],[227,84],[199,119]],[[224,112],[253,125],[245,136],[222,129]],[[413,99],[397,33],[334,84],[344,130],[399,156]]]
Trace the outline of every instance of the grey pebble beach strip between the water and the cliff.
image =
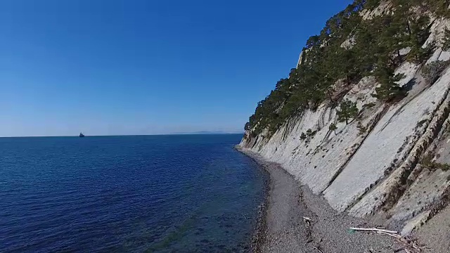
[[352,226],[381,224],[336,212],[281,165],[250,150],[238,146],[236,150],[269,174],[266,197],[252,236],[252,252],[393,252],[399,248],[394,240],[383,235],[348,233]]

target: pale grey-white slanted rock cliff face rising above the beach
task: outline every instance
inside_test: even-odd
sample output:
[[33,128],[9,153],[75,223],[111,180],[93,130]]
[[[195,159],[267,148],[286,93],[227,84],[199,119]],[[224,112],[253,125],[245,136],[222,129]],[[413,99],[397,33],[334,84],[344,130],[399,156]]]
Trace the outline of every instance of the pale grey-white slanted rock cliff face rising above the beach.
[[[389,10],[384,2],[361,15],[367,20]],[[450,163],[450,69],[432,83],[423,77],[426,65],[449,60],[450,53],[439,46],[449,28],[446,18],[432,17],[423,44],[438,45],[432,56],[420,64],[404,60],[397,67],[395,72],[404,74],[397,84],[408,90],[399,102],[374,98],[379,84],[375,77],[364,77],[345,91],[344,99],[359,109],[349,124],[338,122],[339,108],[324,102],[290,117],[274,134],[266,129],[252,136],[247,131],[240,147],[280,163],[314,193],[323,194],[334,209],[383,216],[409,233],[444,208],[450,193],[450,170],[444,166]],[[347,39],[345,48],[352,43]],[[337,129],[330,130],[330,124]],[[308,131],[312,133],[305,139]]]

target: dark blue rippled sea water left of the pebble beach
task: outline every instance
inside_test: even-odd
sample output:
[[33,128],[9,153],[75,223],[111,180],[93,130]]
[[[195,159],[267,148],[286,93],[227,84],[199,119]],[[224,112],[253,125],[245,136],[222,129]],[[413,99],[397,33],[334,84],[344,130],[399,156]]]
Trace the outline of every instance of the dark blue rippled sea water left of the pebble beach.
[[245,252],[241,135],[0,138],[0,252]]

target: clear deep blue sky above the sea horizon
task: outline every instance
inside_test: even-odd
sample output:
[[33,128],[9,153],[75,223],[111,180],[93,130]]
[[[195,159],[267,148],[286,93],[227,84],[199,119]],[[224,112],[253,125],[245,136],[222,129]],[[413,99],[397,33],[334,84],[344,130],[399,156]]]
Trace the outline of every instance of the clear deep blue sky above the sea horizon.
[[0,136],[242,131],[350,0],[0,2]]

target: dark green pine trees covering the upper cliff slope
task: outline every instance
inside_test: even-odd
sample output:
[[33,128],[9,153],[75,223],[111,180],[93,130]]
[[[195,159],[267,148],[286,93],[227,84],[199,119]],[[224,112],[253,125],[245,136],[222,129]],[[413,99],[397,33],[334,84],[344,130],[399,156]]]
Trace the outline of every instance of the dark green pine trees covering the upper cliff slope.
[[[390,5],[387,12],[366,15],[383,2]],[[430,17],[450,17],[449,4],[446,0],[355,0],[330,18],[319,34],[309,37],[299,65],[257,104],[245,124],[249,137],[265,129],[271,136],[288,119],[314,111],[322,103],[339,106],[345,93],[364,77],[376,78],[375,98],[397,103],[408,87],[397,84],[404,76],[395,70],[405,61],[421,64],[430,57],[437,46],[423,46],[430,35]],[[446,31],[440,42],[444,48],[450,48],[449,39]],[[429,81],[435,81],[445,67],[442,63],[430,66]]]

